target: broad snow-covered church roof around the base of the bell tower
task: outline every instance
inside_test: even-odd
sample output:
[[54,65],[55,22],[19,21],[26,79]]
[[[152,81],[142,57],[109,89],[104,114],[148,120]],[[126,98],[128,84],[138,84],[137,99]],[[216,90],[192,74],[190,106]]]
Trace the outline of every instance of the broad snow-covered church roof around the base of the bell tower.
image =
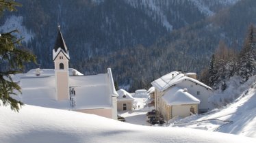
[[[52,75],[54,69],[43,70]],[[30,71],[33,72],[33,71]],[[29,75],[29,74],[28,74]],[[112,89],[110,74],[93,76],[69,76],[69,86],[75,89],[75,108],[71,108],[69,99],[57,101],[55,95],[55,76],[28,76],[21,78],[22,95],[25,104],[60,109],[111,108],[112,96],[117,96]]]

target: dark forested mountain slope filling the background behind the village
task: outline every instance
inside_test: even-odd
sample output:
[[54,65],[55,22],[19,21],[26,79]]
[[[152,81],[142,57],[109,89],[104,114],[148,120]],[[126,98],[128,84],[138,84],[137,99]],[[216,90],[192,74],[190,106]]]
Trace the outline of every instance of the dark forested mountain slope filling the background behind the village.
[[[243,35],[238,33],[253,22],[254,14],[245,9],[255,5],[251,0],[18,2],[23,7],[12,14],[22,19],[19,27],[25,27],[31,36],[25,44],[40,64],[27,69],[53,67],[51,52],[60,24],[71,53],[70,67],[84,74],[103,73],[111,67],[114,79],[119,85],[132,86],[130,91],[146,88],[172,70],[199,73],[222,38],[229,44],[241,45]],[[220,12],[227,7],[235,11]],[[242,14],[241,8],[245,10]],[[207,11],[216,16],[208,19],[211,14]],[[231,25],[237,22],[234,16],[240,16],[243,22]]]

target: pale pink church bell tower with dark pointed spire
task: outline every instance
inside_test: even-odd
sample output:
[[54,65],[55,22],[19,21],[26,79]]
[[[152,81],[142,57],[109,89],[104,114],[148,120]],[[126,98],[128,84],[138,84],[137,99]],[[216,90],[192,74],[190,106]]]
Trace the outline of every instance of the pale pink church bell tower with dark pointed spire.
[[69,99],[69,52],[64,42],[60,26],[53,48],[53,62],[55,71],[55,95],[57,100]]

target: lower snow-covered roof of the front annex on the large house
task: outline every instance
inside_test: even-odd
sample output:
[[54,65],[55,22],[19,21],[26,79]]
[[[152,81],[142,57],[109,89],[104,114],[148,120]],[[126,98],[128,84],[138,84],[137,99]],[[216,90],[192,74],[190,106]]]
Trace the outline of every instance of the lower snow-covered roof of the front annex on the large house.
[[179,89],[178,87],[172,87],[162,97],[166,104],[170,106],[180,106],[183,104],[200,104],[200,100],[188,93],[186,89]]

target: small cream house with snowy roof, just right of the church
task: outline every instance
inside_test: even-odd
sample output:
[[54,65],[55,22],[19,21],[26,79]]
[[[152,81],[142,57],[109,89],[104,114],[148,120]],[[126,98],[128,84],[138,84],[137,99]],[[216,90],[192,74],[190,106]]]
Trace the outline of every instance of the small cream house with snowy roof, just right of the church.
[[133,110],[134,107],[134,98],[130,93],[125,91],[124,89],[120,89],[117,91],[117,110],[125,111],[125,110]]

